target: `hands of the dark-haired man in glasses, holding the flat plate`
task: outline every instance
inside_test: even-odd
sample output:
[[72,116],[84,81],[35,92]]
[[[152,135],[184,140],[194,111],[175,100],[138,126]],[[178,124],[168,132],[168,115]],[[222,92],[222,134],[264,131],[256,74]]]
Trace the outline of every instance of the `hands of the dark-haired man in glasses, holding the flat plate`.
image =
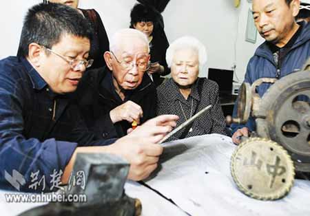
[[143,180],[157,167],[163,147],[156,144],[176,127],[178,116],[163,115],[148,120],[110,146],[112,153],[130,162],[130,180]]

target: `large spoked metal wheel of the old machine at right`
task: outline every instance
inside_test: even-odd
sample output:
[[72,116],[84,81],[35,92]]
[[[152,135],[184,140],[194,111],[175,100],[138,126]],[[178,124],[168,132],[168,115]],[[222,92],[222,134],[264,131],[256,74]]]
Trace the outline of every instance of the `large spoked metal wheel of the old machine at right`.
[[282,144],[295,162],[310,163],[309,98],[310,72],[290,74],[269,88],[256,116],[258,136]]

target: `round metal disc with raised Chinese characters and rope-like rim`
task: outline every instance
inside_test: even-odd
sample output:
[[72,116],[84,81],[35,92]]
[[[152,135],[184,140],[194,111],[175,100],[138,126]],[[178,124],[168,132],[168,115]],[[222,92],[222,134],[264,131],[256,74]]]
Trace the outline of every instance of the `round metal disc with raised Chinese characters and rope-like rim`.
[[242,142],[231,156],[230,169],[242,193],[262,200],[287,195],[295,175],[287,151],[265,138],[249,138]]

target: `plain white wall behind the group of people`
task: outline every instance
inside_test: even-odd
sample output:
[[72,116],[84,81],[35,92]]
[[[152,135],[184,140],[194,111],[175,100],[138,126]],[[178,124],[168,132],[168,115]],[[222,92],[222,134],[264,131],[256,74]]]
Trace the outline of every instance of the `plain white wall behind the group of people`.
[[[3,3],[0,8],[0,58],[16,54],[25,11],[39,2],[41,0]],[[196,36],[207,47],[207,67],[231,69],[236,64],[236,74],[242,81],[249,58],[263,40],[258,35],[256,44],[245,41],[250,3],[242,0],[240,7],[234,8],[233,2],[170,0],[163,17],[170,42],[185,34]],[[130,9],[134,3],[135,0],[80,0],[79,6],[95,8],[103,19],[108,36],[112,36],[119,28],[129,26]],[[207,68],[200,72],[200,76],[207,76]]]

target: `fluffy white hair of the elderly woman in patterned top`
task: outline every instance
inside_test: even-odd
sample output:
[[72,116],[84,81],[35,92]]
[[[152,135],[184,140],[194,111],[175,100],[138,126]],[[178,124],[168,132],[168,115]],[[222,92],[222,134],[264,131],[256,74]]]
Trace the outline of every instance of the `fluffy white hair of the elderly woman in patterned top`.
[[183,36],[179,39],[176,39],[172,44],[169,45],[166,52],[166,61],[168,67],[172,65],[172,58],[174,58],[174,53],[177,50],[183,49],[192,49],[198,54],[199,61],[199,71],[203,69],[203,65],[207,63],[207,50],[205,49],[205,45],[198,41],[198,39],[194,38],[194,36]]

